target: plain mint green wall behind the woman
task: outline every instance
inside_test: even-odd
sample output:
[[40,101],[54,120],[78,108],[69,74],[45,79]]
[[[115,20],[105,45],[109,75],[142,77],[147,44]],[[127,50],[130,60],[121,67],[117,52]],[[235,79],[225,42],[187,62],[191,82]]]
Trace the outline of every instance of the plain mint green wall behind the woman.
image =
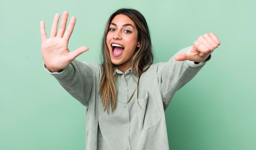
[[84,150],[85,107],[43,69],[39,22],[49,37],[69,11],[70,50],[88,46],[77,59],[100,62],[106,21],[123,7],[145,16],[155,62],[205,33],[221,41],[166,110],[170,149],[256,150],[255,0],[1,0],[0,150]]

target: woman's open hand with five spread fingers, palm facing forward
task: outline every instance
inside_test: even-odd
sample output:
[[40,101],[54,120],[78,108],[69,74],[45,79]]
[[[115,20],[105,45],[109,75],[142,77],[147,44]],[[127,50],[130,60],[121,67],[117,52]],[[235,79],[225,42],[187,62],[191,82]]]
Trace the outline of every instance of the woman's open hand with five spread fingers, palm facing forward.
[[[60,15],[54,16],[50,38],[47,39],[44,21],[40,22],[40,31],[42,38],[42,56],[45,66],[50,72],[61,72],[67,67],[77,56],[88,50],[88,47],[79,47],[75,51],[70,52],[67,48],[68,41],[74,29],[76,18],[73,16],[65,32],[67,24],[68,12],[64,11],[61,25],[57,34],[58,20]],[[65,34],[64,34],[65,32]]]

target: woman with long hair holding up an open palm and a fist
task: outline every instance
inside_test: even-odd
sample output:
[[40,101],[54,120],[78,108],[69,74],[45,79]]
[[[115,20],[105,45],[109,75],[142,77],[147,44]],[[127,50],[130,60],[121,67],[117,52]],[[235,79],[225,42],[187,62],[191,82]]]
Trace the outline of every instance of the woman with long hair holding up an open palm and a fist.
[[[134,9],[113,13],[102,40],[103,63],[81,63],[76,56],[88,50],[67,48],[75,18],[64,35],[68,13],[56,14],[47,39],[40,22],[45,69],[86,109],[87,150],[168,150],[164,110],[175,92],[189,82],[220,45],[205,34],[193,47],[165,63],[153,63],[145,18]],[[186,60],[186,61],[181,61]]]

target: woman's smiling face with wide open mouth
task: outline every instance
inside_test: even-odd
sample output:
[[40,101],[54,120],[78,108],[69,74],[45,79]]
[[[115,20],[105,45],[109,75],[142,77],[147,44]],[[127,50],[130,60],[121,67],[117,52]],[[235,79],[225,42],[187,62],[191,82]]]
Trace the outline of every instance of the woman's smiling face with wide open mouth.
[[106,37],[111,62],[121,72],[130,68],[130,58],[137,47],[138,30],[135,23],[126,15],[119,14],[113,18]]

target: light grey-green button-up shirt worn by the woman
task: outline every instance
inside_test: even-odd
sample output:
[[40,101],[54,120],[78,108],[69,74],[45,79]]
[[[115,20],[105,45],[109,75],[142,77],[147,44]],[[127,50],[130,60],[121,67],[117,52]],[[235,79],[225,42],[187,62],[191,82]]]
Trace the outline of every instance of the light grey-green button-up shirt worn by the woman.
[[[177,54],[190,50],[187,47]],[[104,111],[99,94],[101,65],[74,60],[63,72],[51,74],[87,107],[86,150],[169,150],[164,111],[175,92],[204,64],[178,62],[174,57],[155,63],[141,75],[139,89],[136,74],[131,74],[130,69],[124,74],[116,69],[117,107],[110,114]]]

